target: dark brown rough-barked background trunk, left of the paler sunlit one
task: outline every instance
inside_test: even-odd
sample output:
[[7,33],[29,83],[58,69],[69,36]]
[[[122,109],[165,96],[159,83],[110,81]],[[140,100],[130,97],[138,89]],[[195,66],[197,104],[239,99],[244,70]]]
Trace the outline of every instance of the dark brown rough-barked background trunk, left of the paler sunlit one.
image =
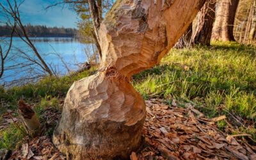
[[195,20],[191,45],[210,45],[213,22],[215,20],[216,0],[207,0]]

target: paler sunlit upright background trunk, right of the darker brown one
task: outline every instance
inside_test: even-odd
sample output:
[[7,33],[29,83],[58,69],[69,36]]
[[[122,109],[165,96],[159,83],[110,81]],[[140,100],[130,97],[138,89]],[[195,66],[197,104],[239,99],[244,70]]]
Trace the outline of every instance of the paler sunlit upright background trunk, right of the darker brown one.
[[218,0],[212,40],[234,41],[233,29],[239,0]]

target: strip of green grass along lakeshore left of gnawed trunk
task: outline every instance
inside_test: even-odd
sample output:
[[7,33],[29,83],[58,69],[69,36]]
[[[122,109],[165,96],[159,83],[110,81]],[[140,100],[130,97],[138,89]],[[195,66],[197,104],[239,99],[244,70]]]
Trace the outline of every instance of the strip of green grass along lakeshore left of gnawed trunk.
[[6,112],[6,109],[16,109],[19,99],[25,99],[26,102],[40,102],[47,97],[65,97],[68,88],[79,79],[91,75],[95,71],[92,68],[74,76],[63,77],[45,77],[38,83],[29,83],[24,86],[14,86],[9,89],[0,87],[0,114]]

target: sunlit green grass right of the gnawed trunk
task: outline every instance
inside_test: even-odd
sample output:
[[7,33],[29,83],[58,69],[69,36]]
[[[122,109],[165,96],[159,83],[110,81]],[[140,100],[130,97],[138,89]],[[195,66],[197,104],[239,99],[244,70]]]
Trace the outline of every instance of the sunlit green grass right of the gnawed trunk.
[[[214,42],[172,49],[159,66],[135,75],[133,84],[145,99],[193,101],[209,117],[234,113],[255,122],[256,47]],[[256,136],[255,127],[250,131]]]

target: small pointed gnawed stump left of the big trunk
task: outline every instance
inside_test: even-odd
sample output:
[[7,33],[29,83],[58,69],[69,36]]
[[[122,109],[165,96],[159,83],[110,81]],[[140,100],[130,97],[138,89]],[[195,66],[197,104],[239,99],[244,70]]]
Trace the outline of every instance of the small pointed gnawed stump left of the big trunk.
[[37,131],[38,129],[40,129],[40,122],[31,106],[26,104],[24,100],[20,99],[18,103],[18,108],[24,125],[26,125],[29,131]]

